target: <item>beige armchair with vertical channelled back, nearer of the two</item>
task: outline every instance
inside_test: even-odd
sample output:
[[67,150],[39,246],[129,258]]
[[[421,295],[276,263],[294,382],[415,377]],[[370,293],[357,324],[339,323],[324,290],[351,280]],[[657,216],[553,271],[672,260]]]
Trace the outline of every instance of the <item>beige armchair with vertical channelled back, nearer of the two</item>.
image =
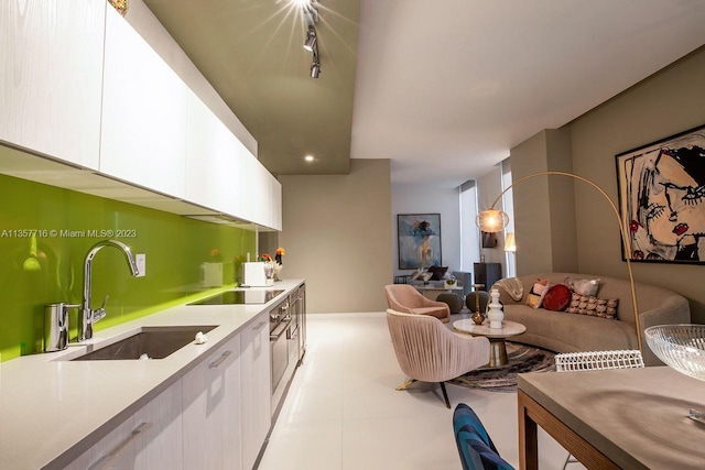
[[451,408],[445,381],[455,379],[489,362],[489,340],[451,331],[437,318],[387,310],[387,325],[402,372],[408,380],[397,390],[415,381],[438,382]]

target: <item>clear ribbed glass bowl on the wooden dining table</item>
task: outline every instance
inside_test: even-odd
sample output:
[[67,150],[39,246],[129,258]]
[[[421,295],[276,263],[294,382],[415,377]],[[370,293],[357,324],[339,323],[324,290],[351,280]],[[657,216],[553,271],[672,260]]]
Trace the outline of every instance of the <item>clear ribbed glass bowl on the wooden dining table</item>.
[[647,328],[644,335],[666,365],[705,381],[705,325],[659,325]]

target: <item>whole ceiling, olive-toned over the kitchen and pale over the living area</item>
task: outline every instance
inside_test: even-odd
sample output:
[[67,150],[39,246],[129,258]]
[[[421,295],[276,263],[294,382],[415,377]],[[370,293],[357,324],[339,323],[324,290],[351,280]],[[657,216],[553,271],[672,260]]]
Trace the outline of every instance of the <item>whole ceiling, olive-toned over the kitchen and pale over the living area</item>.
[[272,173],[391,159],[446,187],[705,44],[704,0],[319,0],[312,79],[289,0],[144,2]]

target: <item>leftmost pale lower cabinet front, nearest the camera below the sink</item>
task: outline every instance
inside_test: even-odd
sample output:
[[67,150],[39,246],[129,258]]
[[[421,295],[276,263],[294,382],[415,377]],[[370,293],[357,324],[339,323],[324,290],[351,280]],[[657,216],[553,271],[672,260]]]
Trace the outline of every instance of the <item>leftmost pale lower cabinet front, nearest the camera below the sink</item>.
[[181,411],[182,384],[178,381],[66,468],[183,469]]

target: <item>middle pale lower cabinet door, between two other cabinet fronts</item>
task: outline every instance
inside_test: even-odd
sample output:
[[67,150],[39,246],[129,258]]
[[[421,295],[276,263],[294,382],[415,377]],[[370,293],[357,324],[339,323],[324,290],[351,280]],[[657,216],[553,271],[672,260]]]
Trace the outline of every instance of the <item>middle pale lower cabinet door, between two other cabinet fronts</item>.
[[184,469],[241,469],[240,336],[184,375],[182,383]]

